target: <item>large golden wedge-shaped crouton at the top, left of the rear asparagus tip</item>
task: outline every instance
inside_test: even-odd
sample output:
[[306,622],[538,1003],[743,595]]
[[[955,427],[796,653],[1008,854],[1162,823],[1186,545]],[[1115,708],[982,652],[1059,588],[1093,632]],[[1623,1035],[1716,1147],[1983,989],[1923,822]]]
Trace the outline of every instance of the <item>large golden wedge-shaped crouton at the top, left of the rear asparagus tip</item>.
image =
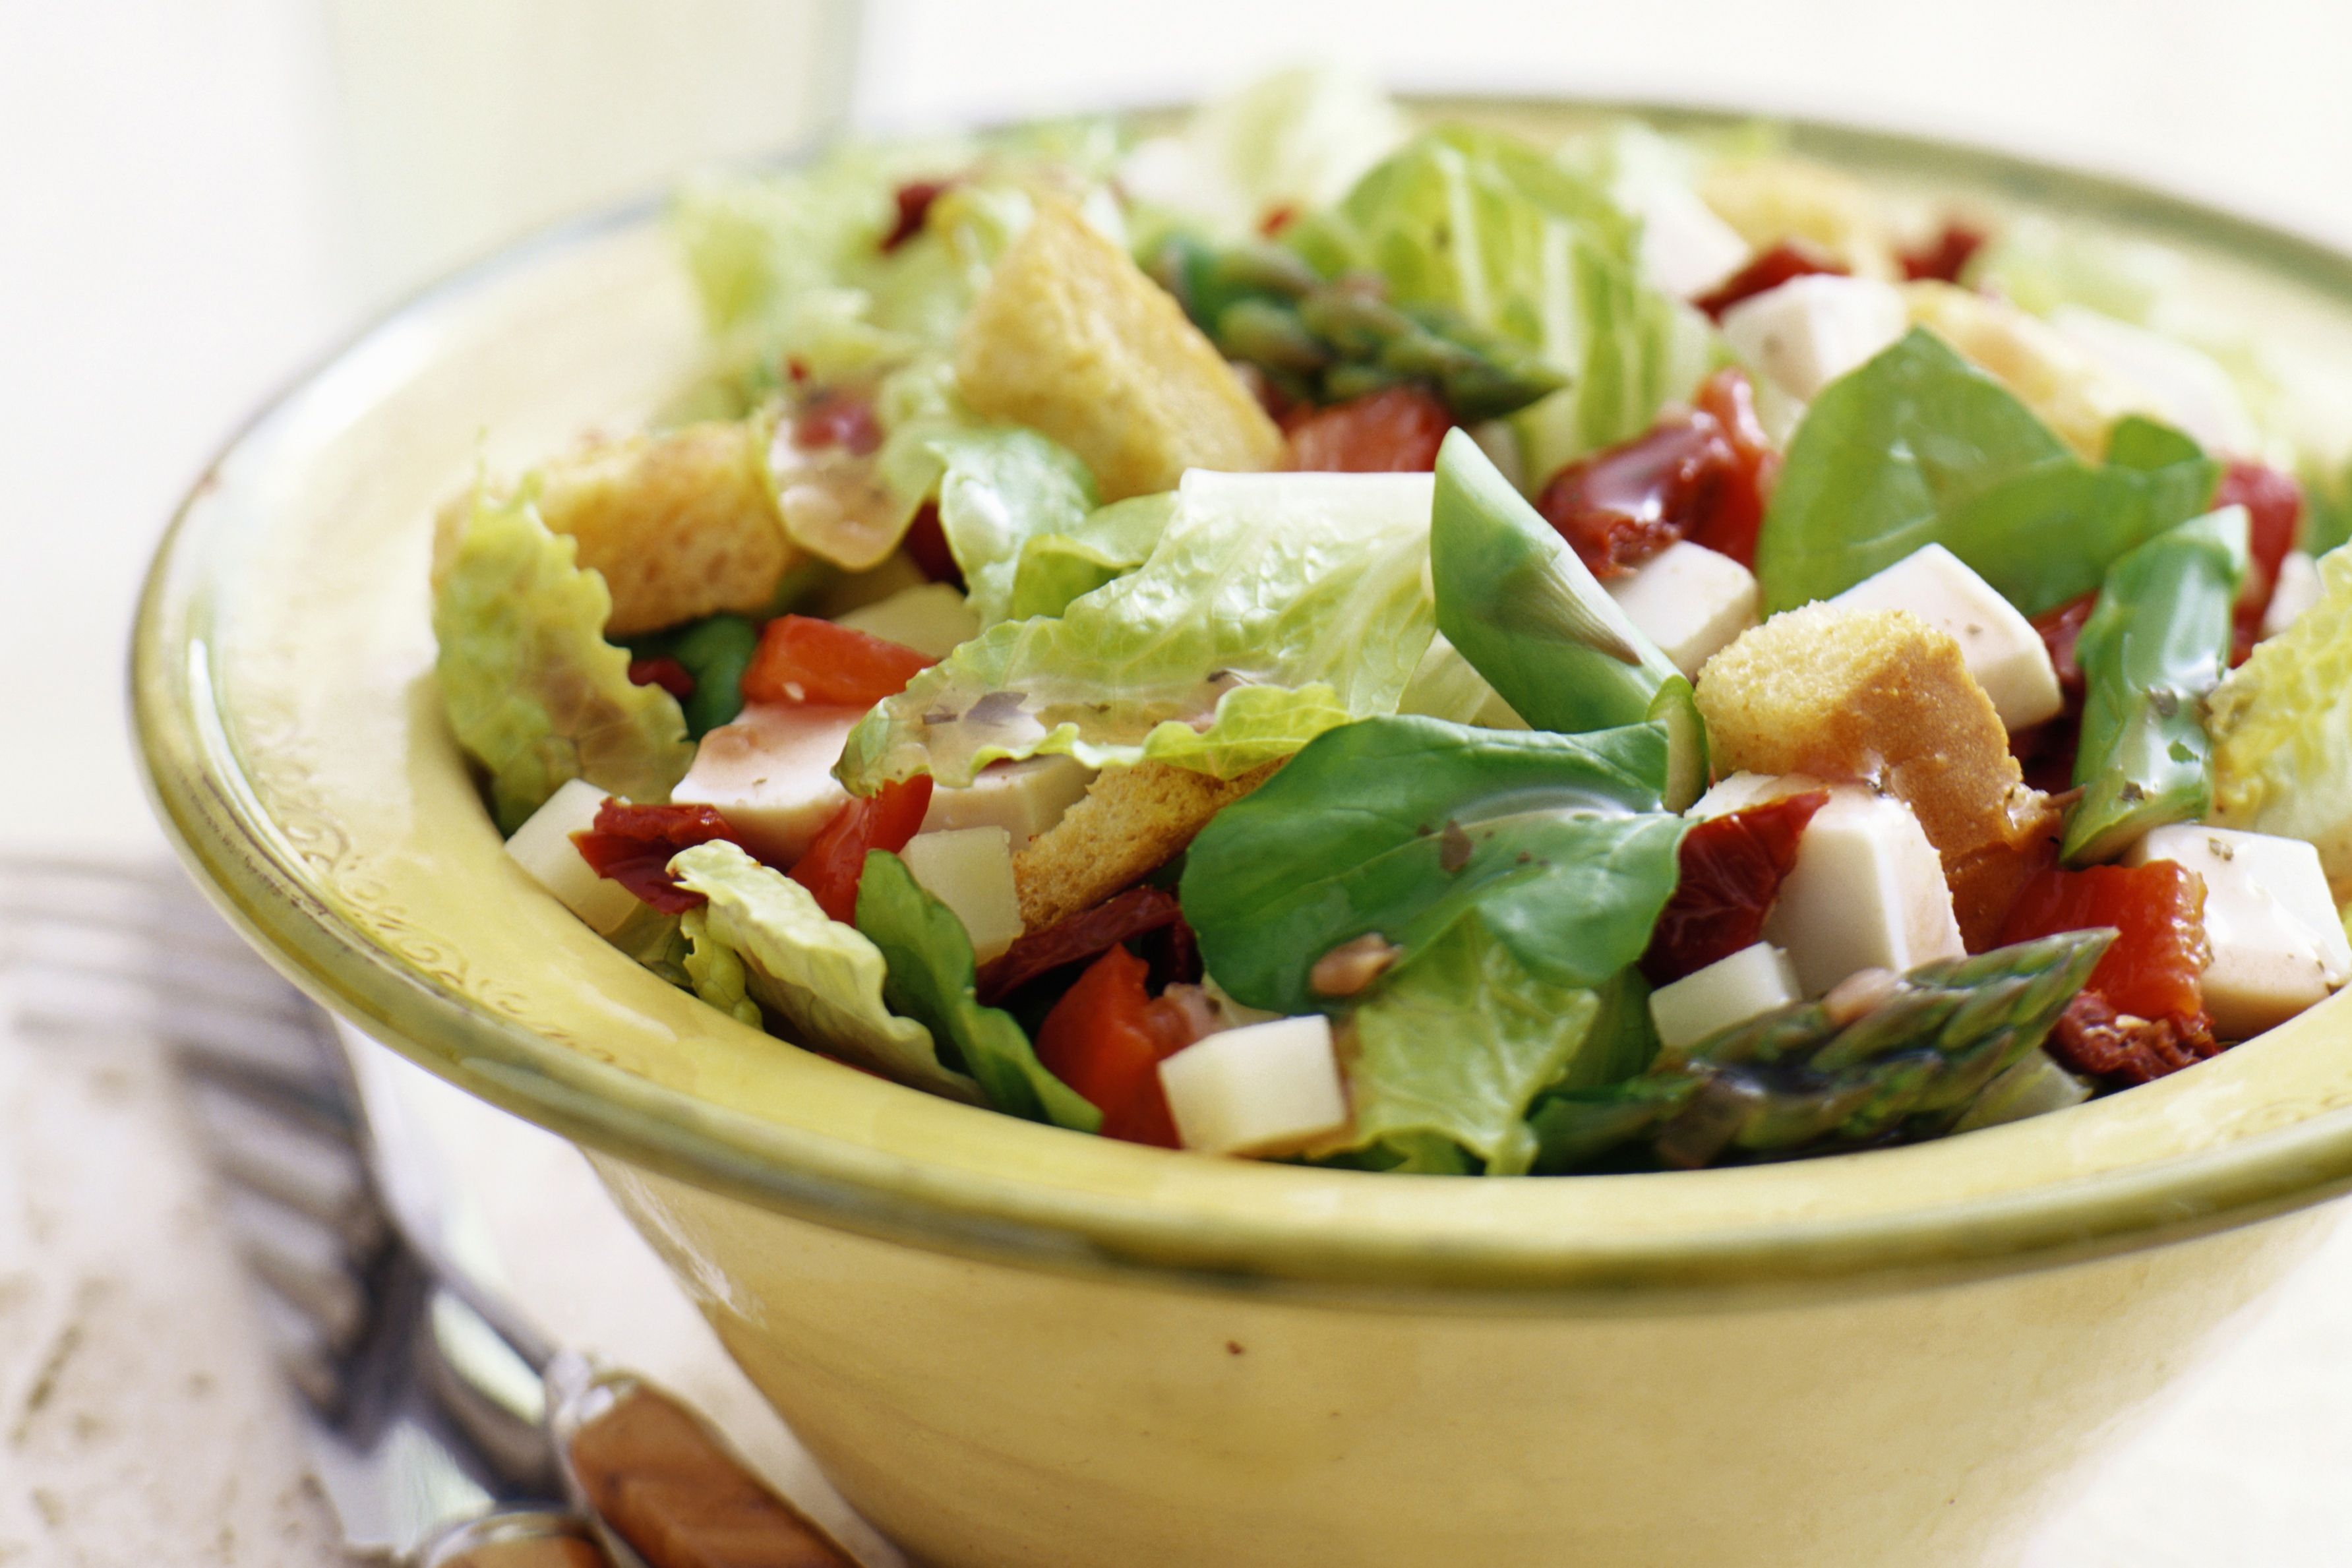
[[997,261],[957,336],[955,376],[981,416],[1084,458],[1103,501],[1176,489],[1185,468],[1282,463],[1282,433],[1209,339],[1061,202],[1040,202]]

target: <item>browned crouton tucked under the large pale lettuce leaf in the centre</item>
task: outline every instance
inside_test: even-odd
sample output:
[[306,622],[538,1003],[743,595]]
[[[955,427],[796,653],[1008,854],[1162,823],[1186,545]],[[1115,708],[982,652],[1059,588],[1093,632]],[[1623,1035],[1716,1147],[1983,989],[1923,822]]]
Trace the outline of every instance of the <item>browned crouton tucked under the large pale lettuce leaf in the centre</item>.
[[1167,762],[1105,769],[1058,823],[1014,856],[1021,926],[1044,931],[1167,865],[1209,818],[1272,778],[1279,762],[1216,778]]

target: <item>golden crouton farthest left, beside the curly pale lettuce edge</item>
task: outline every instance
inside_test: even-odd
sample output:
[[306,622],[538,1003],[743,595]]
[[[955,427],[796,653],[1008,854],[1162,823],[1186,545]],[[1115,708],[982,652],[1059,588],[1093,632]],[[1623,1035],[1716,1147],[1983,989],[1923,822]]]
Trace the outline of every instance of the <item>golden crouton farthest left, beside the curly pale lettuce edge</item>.
[[[600,442],[539,470],[539,515],[579,541],[579,564],[604,574],[614,637],[722,609],[757,614],[800,562],[767,482],[767,423],[708,423]],[[433,541],[440,583],[473,496],[442,508]]]

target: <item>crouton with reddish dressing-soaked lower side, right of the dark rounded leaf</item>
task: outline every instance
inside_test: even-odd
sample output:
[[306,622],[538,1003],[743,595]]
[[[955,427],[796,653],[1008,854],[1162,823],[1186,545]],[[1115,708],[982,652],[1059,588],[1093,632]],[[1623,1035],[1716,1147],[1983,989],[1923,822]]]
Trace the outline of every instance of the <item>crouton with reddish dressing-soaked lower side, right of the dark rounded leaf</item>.
[[1698,712],[1719,771],[1858,778],[1919,818],[1976,950],[2046,863],[2056,813],[2025,788],[1959,644],[1903,609],[1806,604],[1708,661]]

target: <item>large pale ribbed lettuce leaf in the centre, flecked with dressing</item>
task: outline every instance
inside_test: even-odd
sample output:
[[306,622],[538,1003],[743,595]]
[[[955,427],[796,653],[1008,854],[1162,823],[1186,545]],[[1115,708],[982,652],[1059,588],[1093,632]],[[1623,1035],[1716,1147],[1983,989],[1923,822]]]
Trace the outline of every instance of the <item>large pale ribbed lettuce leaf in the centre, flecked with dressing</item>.
[[1235,778],[1395,712],[1432,630],[1430,484],[1192,470],[1138,569],[955,649],[866,715],[837,776],[962,788],[997,757],[1068,752]]

